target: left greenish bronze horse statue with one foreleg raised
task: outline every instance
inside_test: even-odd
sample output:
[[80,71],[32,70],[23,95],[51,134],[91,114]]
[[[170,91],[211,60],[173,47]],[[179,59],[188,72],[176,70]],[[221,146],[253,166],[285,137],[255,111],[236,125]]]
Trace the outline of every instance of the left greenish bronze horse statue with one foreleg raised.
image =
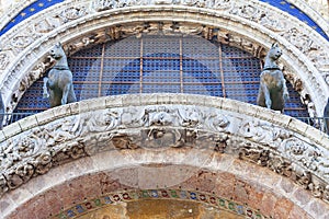
[[73,77],[61,44],[56,44],[49,55],[56,60],[56,64],[48,71],[48,78],[44,78],[44,97],[49,97],[50,107],[76,102]]

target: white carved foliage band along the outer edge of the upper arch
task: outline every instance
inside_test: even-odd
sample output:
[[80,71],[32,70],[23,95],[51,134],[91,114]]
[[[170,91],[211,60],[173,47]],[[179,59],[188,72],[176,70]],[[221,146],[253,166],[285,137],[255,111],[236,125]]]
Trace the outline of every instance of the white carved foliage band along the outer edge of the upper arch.
[[[309,33],[304,33],[303,30],[295,26],[290,26],[286,23],[286,19],[281,14],[276,14],[268,9],[260,8],[258,4],[243,3],[231,0],[94,0],[92,2],[92,8],[95,11],[111,10],[114,8],[124,8],[129,5],[145,5],[145,4],[182,4],[191,7],[200,7],[207,9],[225,10],[226,13],[241,16],[253,22],[258,22],[272,31],[280,32],[283,37],[294,44],[303,53],[311,56],[309,58],[314,59],[317,56],[314,54],[326,54],[324,53],[324,47],[319,46],[321,44],[317,43],[316,38]],[[232,7],[234,5],[234,7]],[[49,15],[42,16],[43,20],[35,20],[31,25],[33,28],[26,32],[24,35],[12,35],[11,45],[16,48],[25,48],[32,42],[39,38],[44,33],[48,33],[54,28],[67,23],[80,19],[87,14],[95,13],[90,11],[89,5],[68,5],[67,9],[61,9],[61,11],[56,12],[52,18]],[[21,34],[21,33],[20,33]],[[8,45],[4,42],[4,45]],[[18,50],[19,53],[20,50]],[[310,54],[311,53],[311,54]],[[324,60],[314,60],[315,64],[326,65]],[[325,60],[329,65],[329,60]],[[319,66],[319,67],[320,67]],[[329,67],[328,67],[329,68]]]

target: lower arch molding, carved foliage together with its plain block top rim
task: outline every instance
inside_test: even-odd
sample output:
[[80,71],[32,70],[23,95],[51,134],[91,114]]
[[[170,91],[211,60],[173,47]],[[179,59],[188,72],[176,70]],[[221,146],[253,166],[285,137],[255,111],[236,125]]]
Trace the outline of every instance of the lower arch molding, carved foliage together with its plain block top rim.
[[328,142],[326,134],[302,122],[232,100],[184,94],[101,97],[4,127],[0,193],[56,165],[109,150],[192,147],[236,154],[329,201]]

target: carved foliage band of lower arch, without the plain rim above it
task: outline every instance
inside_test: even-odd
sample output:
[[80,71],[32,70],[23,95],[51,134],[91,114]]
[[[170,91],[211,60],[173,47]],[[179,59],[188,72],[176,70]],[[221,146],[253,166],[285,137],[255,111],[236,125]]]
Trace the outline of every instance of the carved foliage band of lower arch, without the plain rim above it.
[[243,114],[177,104],[113,107],[54,118],[2,141],[0,194],[86,155],[182,147],[237,154],[292,178],[316,197],[328,196],[329,152],[304,136]]

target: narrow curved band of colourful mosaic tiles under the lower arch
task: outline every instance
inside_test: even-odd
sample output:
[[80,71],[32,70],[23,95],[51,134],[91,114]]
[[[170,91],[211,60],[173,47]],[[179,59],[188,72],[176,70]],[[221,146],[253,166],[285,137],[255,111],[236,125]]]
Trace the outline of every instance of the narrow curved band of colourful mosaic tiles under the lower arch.
[[78,218],[89,211],[93,211],[107,205],[117,205],[120,203],[137,201],[144,199],[177,199],[177,200],[191,200],[209,205],[219,210],[230,211],[246,218],[260,218],[265,219],[266,216],[258,210],[249,208],[247,205],[235,203],[222,197],[216,197],[213,194],[205,194],[194,191],[180,191],[180,189],[145,189],[145,191],[125,191],[106,194],[102,197],[87,199],[82,204],[77,204],[68,209],[63,210],[54,217],[57,219]]

